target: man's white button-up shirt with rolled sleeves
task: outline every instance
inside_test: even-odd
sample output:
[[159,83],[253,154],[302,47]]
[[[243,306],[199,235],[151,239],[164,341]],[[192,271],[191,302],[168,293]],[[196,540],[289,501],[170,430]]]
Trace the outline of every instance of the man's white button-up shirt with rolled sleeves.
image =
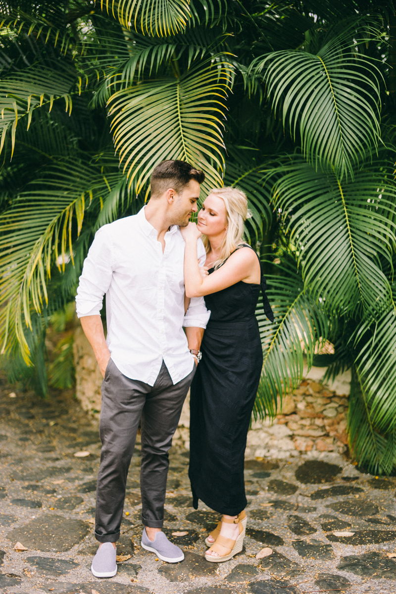
[[[183,326],[205,328],[203,297],[184,313],[185,242],[178,226],[165,233],[165,249],[144,207],[97,231],[77,289],[77,315],[99,314],[106,294],[107,346],[126,377],[153,386],[165,362],[173,384],[194,369]],[[198,239],[199,265],[205,248]]]

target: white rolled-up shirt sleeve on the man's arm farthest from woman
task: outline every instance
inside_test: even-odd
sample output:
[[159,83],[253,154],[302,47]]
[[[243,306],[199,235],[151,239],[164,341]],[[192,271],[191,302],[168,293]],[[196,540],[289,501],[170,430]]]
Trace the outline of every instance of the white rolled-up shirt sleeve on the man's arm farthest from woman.
[[100,228],[85,258],[83,272],[75,302],[77,317],[99,315],[103,307],[103,295],[109,290],[112,280],[112,242],[106,226]]

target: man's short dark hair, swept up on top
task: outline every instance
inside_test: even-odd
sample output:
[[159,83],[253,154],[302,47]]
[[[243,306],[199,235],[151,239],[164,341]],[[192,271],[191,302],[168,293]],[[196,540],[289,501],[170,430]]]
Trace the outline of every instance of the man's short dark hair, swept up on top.
[[179,193],[192,179],[202,184],[205,173],[186,161],[162,161],[151,173],[151,196],[159,198],[169,188]]

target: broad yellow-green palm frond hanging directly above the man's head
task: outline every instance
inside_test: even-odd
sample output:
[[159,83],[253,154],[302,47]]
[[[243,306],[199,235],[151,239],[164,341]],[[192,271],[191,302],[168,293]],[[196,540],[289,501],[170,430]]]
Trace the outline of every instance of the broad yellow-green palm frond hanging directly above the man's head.
[[220,127],[231,76],[226,62],[204,62],[179,78],[145,81],[110,97],[115,148],[129,184],[137,177],[138,192],[166,159],[203,169],[205,187],[222,185],[210,162],[223,169]]

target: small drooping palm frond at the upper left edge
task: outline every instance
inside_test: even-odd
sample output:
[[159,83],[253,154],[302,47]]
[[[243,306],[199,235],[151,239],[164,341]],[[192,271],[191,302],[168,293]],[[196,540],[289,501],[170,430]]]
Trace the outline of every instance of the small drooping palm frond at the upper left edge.
[[11,135],[12,157],[18,120],[24,119],[28,129],[34,109],[49,105],[50,111],[54,100],[63,98],[66,112],[70,114],[74,83],[75,77],[70,72],[42,67],[26,68],[20,74],[0,81],[0,152],[6,138]]

